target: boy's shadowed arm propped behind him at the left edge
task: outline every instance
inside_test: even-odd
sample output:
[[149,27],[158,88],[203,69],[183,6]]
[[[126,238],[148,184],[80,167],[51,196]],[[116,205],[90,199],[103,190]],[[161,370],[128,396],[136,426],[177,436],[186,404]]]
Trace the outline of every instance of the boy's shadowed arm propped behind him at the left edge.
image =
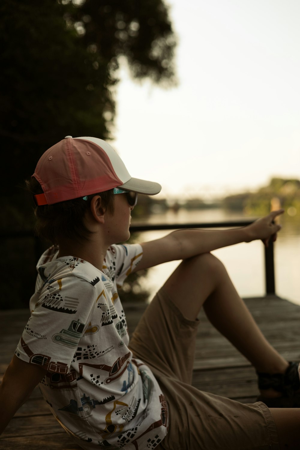
[[13,356],[0,384],[0,434],[46,373],[41,366]]

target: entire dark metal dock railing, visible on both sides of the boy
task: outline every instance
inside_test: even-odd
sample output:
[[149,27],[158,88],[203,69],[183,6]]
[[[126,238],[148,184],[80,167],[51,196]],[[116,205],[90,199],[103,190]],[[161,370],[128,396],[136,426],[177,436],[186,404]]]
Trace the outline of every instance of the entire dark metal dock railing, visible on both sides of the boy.
[[[232,220],[230,222],[210,222],[210,223],[172,223],[172,224],[135,224],[130,226],[130,232],[156,231],[156,230],[175,230],[184,228],[233,228],[250,225],[254,220]],[[34,238],[35,259],[38,261],[41,253],[45,250],[45,245],[39,238],[34,236],[33,231],[12,231],[0,234],[0,239],[13,238]],[[262,244],[263,245],[263,244]],[[269,246],[264,248],[264,267],[265,267],[265,293],[266,295],[275,295],[275,275],[274,275],[274,255],[273,242],[270,240]]]

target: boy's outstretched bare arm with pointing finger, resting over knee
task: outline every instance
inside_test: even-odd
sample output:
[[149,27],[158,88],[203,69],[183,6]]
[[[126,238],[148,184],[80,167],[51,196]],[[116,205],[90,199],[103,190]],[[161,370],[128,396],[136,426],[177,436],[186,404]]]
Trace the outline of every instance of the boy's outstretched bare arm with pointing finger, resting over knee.
[[227,247],[240,242],[261,239],[268,245],[269,239],[276,240],[281,226],[274,219],[284,212],[273,211],[268,216],[256,220],[251,225],[227,230],[180,229],[167,234],[161,239],[142,243],[143,258],[134,272],[163,262],[182,260],[201,253],[208,253],[217,248]]

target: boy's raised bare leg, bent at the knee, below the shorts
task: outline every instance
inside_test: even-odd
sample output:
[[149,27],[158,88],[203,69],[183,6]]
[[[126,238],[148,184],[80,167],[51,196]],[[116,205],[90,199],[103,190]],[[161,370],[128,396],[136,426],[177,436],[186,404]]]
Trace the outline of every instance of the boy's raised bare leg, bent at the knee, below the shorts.
[[[284,373],[287,361],[264,338],[224,265],[210,253],[183,261],[164,285],[182,314],[195,320],[201,306],[210,322],[259,372]],[[269,389],[268,396],[281,394]]]

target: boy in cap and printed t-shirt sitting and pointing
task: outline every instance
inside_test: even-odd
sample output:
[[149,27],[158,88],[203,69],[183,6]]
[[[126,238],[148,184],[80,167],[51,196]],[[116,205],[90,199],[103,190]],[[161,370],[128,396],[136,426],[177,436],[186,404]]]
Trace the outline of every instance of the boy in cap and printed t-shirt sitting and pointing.
[[[37,264],[31,317],[0,385],[0,431],[40,383],[54,416],[84,449],[298,448],[300,410],[265,404],[296,405],[297,367],[265,340],[210,254],[275,240],[282,210],[241,229],[178,230],[116,245],[130,236],[137,193],[154,195],[161,186],[132,178],[109,144],[90,137],[66,136],[49,148],[28,188],[37,231],[54,246]],[[117,288],[131,272],[171,260],[183,261],[129,342]],[[201,306],[255,366],[265,403],[243,405],[191,386]]]

